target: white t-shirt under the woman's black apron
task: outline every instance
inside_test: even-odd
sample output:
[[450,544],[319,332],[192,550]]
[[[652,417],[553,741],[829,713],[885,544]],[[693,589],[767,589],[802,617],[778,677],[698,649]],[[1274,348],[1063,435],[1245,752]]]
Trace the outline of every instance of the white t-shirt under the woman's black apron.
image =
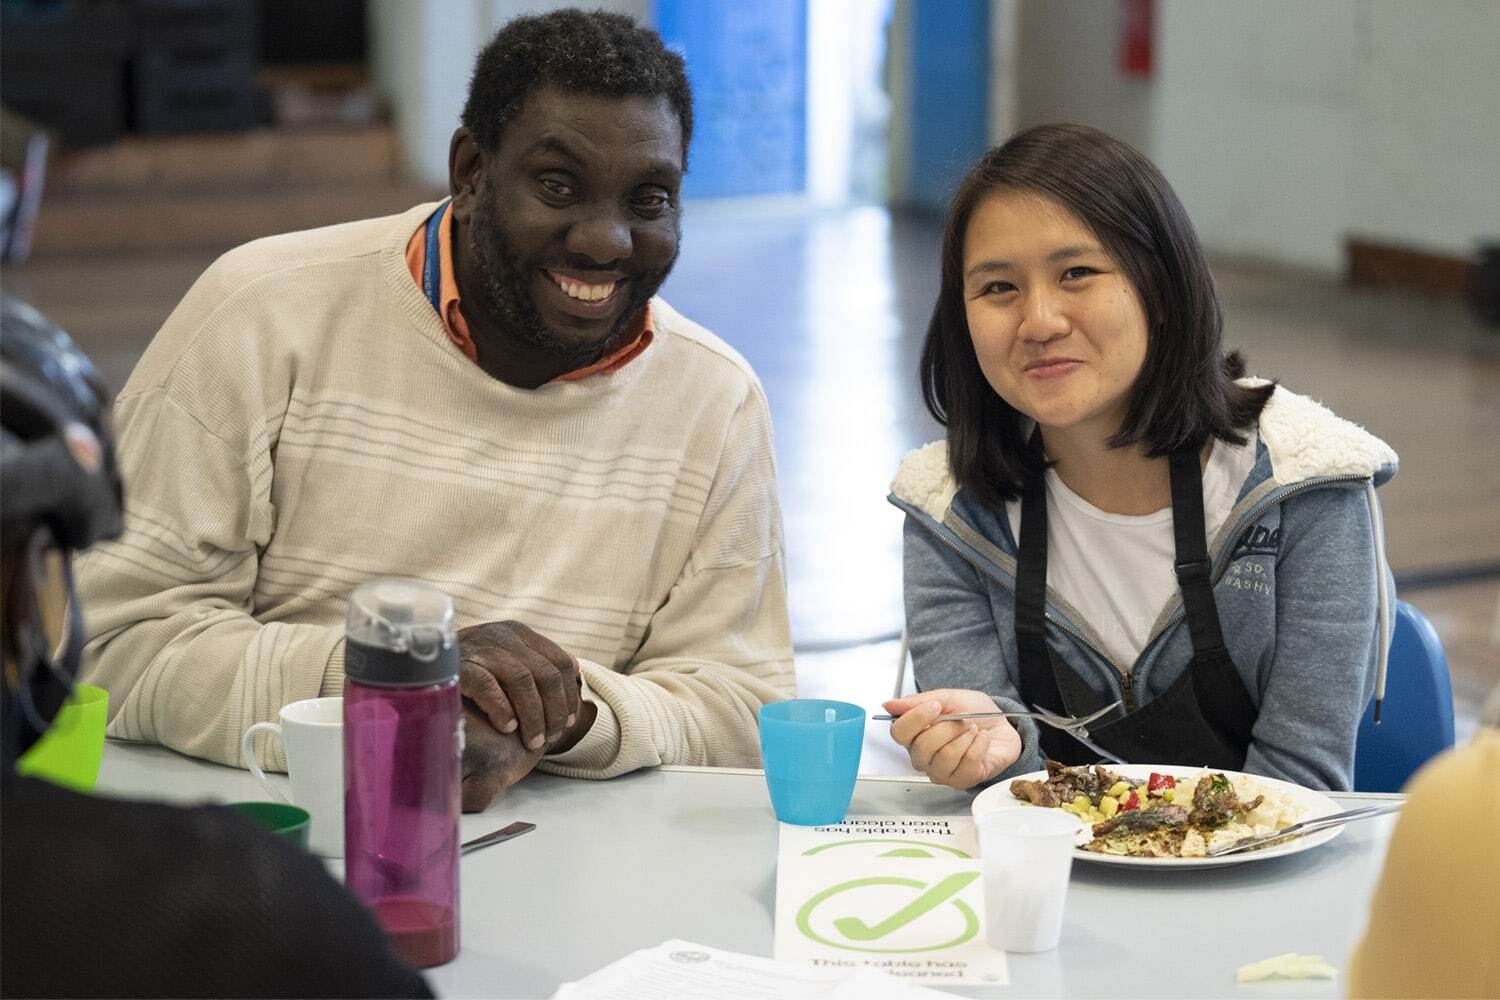
[[[1224,526],[1256,465],[1256,435],[1244,445],[1214,441],[1203,468],[1208,543]],[[1022,537],[1020,501],[1006,504],[1011,534]],[[1104,654],[1130,670],[1150,627],[1178,592],[1172,507],[1152,514],[1110,514],[1047,469],[1047,586],[1072,604],[1100,636]]]

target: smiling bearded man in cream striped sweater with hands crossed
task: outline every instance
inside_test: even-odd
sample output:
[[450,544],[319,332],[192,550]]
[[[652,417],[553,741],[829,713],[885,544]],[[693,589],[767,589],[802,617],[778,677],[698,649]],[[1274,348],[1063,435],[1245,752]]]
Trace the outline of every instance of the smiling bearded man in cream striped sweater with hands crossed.
[[794,690],[770,415],[656,298],[682,60],[522,18],[462,121],[448,199],[226,253],[122,391],[126,531],[81,567],[110,733],[243,763],[252,723],[342,693],[354,586],[405,576],[460,624],[466,810],[536,766],[756,765]]

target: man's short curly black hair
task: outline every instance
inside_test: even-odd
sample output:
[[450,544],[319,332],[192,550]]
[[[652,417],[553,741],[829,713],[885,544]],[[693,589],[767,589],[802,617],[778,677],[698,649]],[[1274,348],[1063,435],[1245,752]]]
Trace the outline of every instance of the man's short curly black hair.
[[622,13],[567,7],[516,18],[474,63],[464,127],[494,151],[520,105],[543,85],[596,97],[666,97],[682,123],[682,163],[693,138],[693,91],[682,57]]

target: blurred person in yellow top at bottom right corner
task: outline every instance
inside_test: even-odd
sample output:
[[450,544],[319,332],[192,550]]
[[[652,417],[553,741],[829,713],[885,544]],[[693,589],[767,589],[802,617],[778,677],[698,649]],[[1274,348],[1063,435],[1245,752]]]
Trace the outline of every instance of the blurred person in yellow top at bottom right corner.
[[1500,997],[1500,688],[1402,792],[1348,996]]

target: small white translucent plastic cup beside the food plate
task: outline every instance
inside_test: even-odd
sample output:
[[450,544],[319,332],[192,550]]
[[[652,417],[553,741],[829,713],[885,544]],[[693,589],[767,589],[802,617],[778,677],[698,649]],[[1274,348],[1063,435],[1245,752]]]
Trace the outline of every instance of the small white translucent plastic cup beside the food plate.
[[1011,808],[980,817],[984,924],[990,945],[1046,952],[1062,939],[1078,820],[1062,810]]

